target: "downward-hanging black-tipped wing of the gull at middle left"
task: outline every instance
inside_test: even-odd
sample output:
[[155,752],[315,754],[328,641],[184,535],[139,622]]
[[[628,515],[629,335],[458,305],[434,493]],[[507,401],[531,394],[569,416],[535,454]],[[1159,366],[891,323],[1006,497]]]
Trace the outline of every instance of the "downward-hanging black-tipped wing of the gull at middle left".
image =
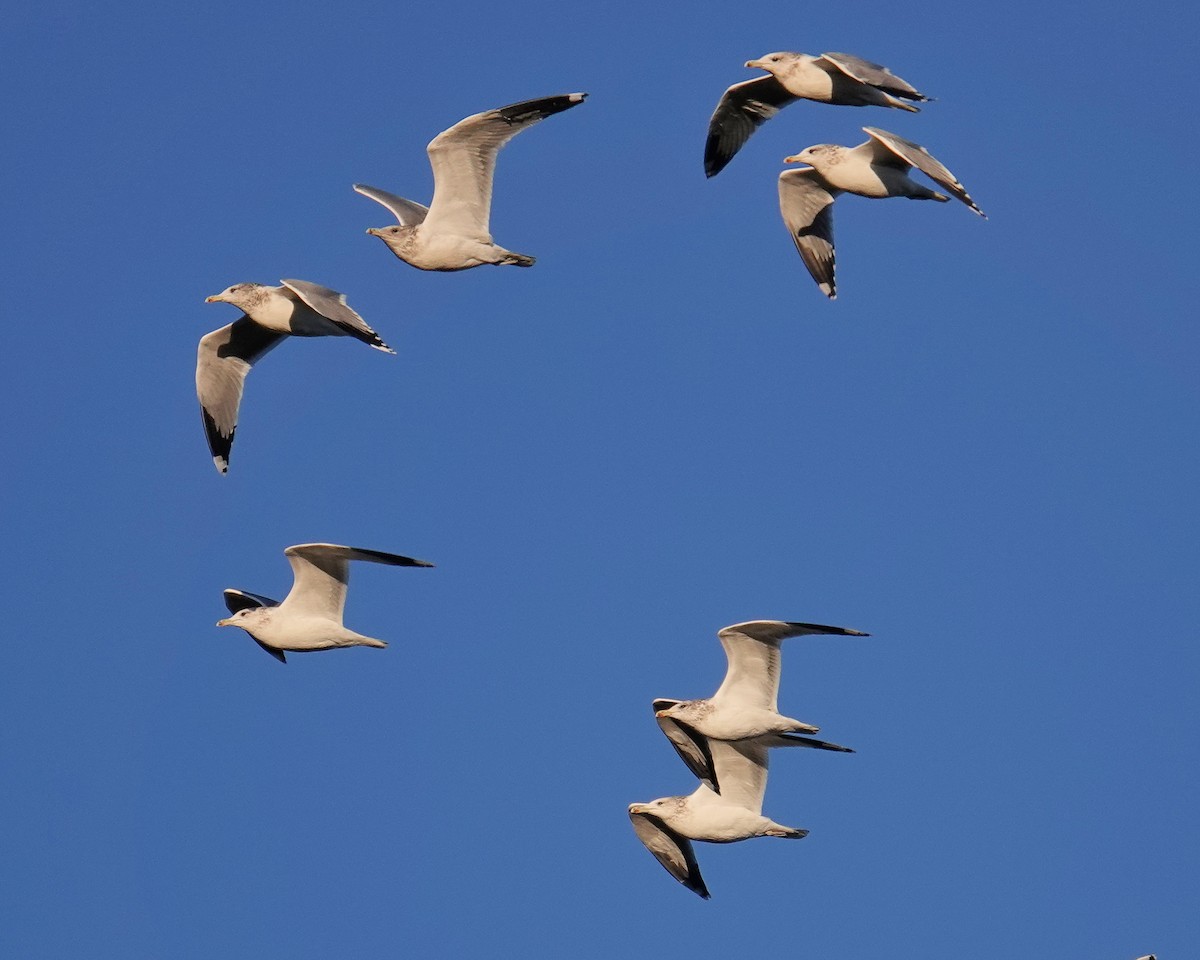
[[242,317],[200,337],[196,356],[196,395],[200,398],[200,415],[212,462],[221,473],[229,469],[229,449],[238,428],[238,407],[246,374],[263,354],[286,336]]

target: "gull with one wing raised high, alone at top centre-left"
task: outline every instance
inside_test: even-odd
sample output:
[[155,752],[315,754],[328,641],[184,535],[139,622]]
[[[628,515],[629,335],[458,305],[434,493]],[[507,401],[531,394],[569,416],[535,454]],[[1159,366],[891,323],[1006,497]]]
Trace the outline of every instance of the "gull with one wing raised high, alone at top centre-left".
[[496,155],[522,130],[583,102],[587,94],[527,100],[460,120],[426,148],[433,167],[433,200],[422,206],[395,193],[355,184],[400,221],[372,227],[404,263],[420,270],[467,270],[480,264],[533,266],[534,258],[492,242],[488,217]]

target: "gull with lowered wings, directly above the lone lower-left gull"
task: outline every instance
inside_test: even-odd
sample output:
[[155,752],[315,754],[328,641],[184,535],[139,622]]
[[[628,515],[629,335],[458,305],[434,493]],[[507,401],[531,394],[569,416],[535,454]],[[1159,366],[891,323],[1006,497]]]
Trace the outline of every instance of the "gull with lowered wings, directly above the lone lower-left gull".
[[284,280],[282,287],[235,283],[209,296],[206,304],[233,304],[245,316],[200,337],[196,359],[196,392],[212,462],[229,470],[229,450],[238,427],[238,408],[250,368],[286,336],[355,337],[384,353],[395,353],[346,305],[346,295],[319,283]]

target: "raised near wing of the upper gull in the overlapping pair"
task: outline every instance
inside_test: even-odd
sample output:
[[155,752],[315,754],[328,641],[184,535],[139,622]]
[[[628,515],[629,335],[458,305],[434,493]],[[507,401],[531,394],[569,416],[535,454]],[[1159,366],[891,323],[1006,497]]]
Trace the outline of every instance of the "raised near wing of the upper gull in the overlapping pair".
[[[721,640],[730,666],[720,688],[712,697],[713,702],[730,701],[738,706],[778,710],[779,643],[788,637],[808,634],[870,636],[845,626],[791,620],[746,620],[726,626],[716,636]],[[720,778],[720,770],[716,775]]]

